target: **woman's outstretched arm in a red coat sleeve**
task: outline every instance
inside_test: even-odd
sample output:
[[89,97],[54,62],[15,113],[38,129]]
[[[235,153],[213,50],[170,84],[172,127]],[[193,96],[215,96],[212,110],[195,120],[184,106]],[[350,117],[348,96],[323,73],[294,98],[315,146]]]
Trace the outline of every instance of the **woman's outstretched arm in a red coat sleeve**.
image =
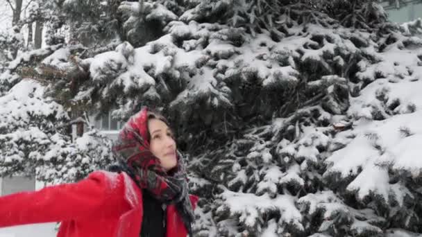
[[112,180],[108,176],[107,173],[94,172],[77,183],[0,197],[0,227],[77,220],[99,210],[105,211],[103,215],[111,214],[107,211],[112,209],[105,207],[118,204],[113,192],[117,191],[121,177]]

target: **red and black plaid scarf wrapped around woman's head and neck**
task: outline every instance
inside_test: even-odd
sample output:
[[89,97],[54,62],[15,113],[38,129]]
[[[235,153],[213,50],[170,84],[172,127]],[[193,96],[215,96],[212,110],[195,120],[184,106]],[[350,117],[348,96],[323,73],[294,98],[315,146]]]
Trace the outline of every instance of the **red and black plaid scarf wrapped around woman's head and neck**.
[[[183,157],[177,152],[177,166],[166,172],[160,165],[160,159],[149,150],[148,134],[148,111],[144,108],[129,119],[112,148],[120,164],[118,166],[155,199],[164,204],[175,204],[189,236],[192,236],[195,219]],[[110,168],[113,169],[116,170],[116,166]]]

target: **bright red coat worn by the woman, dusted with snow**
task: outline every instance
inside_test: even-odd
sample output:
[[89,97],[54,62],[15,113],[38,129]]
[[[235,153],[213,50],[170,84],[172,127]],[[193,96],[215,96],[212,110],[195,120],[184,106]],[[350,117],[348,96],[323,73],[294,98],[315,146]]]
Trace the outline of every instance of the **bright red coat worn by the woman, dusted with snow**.
[[[190,196],[195,207],[198,198]],[[74,184],[0,197],[0,227],[61,221],[58,237],[139,237],[142,192],[126,173],[96,171]],[[167,237],[186,237],[173,205]]]

